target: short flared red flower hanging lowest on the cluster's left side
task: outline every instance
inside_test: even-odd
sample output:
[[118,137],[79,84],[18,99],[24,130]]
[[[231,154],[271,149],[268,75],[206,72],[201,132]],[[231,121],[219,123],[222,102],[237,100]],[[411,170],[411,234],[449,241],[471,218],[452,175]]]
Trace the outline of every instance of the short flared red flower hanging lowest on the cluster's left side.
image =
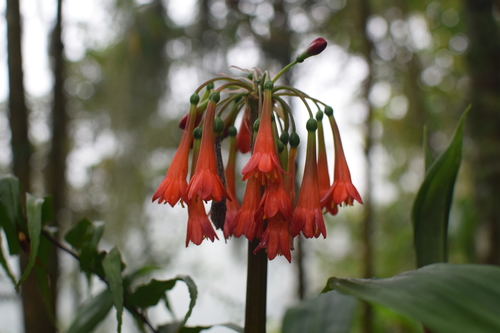
[[194,197],[189,201],[188,215],[186,247],[190,241],[196,245],[200,245],[205,238],[210,239],[212,242],[215,238],[219,239],[208,219],[203,201],[199,197]]

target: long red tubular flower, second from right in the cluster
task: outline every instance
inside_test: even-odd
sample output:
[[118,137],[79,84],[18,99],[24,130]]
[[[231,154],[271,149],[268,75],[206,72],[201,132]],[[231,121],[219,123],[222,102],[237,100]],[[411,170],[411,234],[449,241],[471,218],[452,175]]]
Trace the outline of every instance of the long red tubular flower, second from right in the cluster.
[[[315,120],[313,121],[316,122]],[[297,207],[295,207],[292,218],[292,237],[297,236],[301,231],[306,238],[317,238],[320,234],[326,237],[325,221],[321,213],[319,198],[316,165],[316,133],[309,131],[304,176],[302,177],[302,186],[300,188]]]

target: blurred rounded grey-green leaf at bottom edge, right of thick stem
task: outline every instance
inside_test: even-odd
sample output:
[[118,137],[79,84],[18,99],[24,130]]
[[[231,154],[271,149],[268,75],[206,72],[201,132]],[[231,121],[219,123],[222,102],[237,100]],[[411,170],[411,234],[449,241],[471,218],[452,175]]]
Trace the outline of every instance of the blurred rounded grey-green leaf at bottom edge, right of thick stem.
[[282,333],[349,333],[356,303],[335,291],[321,294],[288,309]]

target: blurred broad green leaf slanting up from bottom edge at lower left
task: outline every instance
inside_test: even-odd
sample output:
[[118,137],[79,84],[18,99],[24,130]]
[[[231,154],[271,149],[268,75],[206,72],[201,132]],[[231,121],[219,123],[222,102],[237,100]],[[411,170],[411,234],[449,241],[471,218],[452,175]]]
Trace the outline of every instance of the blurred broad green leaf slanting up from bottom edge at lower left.
[[89,333],[104,319],[113,306],[113,296],[106,289],[90,298],[76,312],[66,333]]

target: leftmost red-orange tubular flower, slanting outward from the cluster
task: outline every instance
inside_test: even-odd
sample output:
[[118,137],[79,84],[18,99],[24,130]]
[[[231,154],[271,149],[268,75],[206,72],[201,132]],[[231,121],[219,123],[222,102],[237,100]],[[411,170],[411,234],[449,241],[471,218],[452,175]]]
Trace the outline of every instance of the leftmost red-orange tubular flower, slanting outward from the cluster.
[[[197,95],[196,95],[197,96]],[[193,128],[196,120],[196,103],[191,104],[186,129],[182,133],[181,143],[175,153],[172,163],[162,183],[153,195],[152,201],[158,203],[168,202],[174,206],[179,200],[187,201],[186,190],[188,187],[186,177],[188,174],[189,150],[193,141]]]

